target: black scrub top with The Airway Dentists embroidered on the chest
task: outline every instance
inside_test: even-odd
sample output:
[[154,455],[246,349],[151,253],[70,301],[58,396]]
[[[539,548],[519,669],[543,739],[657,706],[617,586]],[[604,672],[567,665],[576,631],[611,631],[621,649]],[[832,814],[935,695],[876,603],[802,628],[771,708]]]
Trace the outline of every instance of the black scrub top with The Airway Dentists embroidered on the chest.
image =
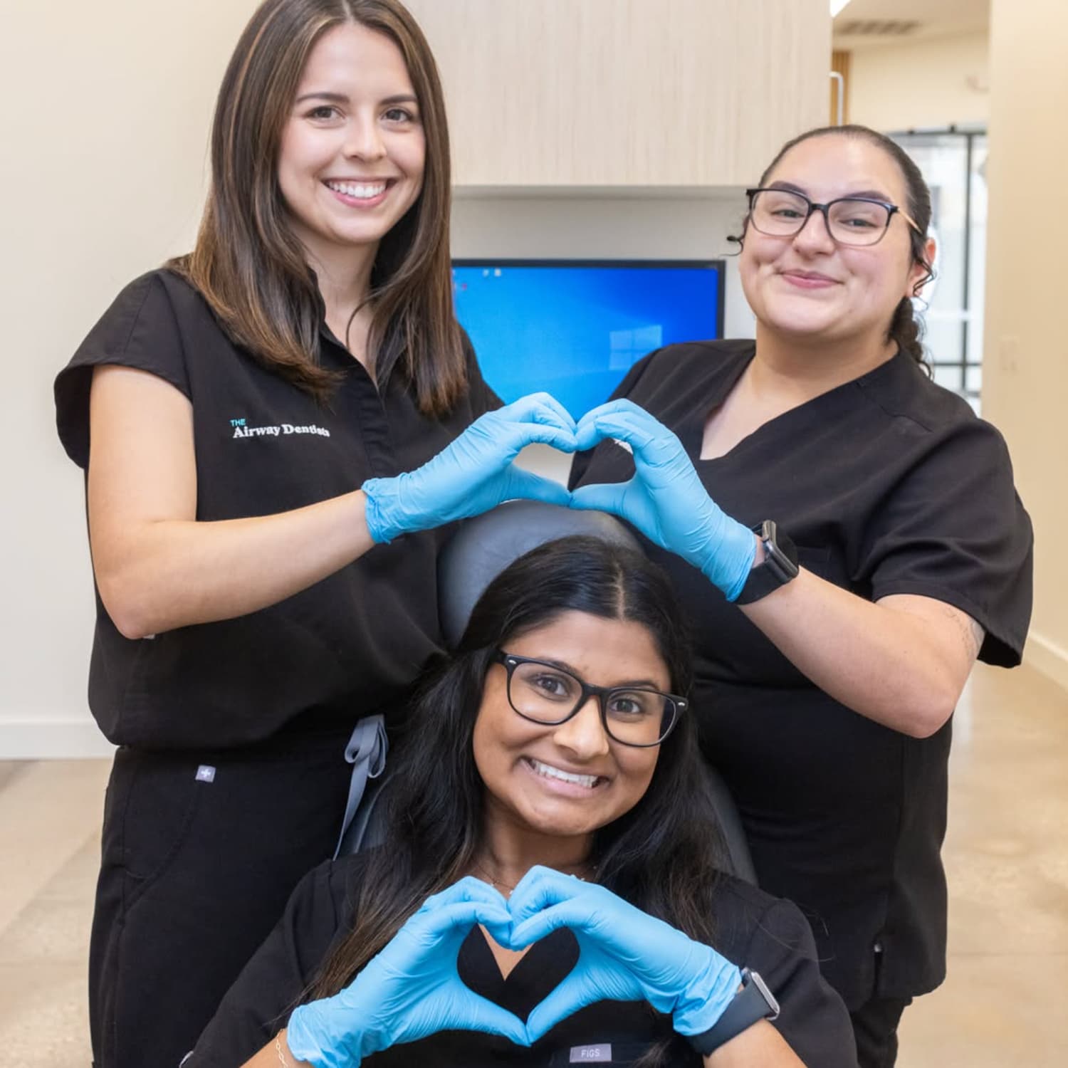
[[[197,519],[266,516],[410,471],[499,406],[468,348],[468,393],[445,418],[420,413],[400,373],[376,387],[320,329],[342,373],[326,404],[267,370],[223,332],[200,294],[160,269],[128,285],[56,380],[70,458],[89,464],[93,367],[150,372],[192,403]],[[131,445],[132,447],[132,445]],[[450,528],[409,534],[278,604],[131,641],[96,597],[89,700],[116,744],[226,748],[294,721],[351,724],[403,702],[441,647],[438,549]]]

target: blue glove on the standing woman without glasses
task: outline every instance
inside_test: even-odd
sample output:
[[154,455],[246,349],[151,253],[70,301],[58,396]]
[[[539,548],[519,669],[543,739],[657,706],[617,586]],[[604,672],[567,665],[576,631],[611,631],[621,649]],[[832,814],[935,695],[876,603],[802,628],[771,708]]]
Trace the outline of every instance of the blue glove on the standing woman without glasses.
[[367,530],[376,543],[488,512],[517,497],[566,505],[567,488],[514,467],[532,442],[574,453],[575,421],[548,393],[532,393],[476,419],[451,445],[414,471],[370,478]]

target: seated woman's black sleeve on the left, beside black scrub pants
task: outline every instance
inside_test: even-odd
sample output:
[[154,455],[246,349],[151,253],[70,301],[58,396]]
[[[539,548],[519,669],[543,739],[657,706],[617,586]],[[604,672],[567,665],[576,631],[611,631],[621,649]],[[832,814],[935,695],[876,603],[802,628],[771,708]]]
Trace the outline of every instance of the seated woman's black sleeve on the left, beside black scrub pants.
[[[347,862],[327,862],[297,884],[274,930],[245,965],[184,1068],[237,1068],[271,1041],[349,916]],[[166,1011],[166,1007],[161,1007]]]

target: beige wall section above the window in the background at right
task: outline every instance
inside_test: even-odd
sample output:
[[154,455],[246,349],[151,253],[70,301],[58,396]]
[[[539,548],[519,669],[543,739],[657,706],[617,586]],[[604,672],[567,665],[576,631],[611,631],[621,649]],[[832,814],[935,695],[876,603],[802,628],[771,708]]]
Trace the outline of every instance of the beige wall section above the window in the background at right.
[[888,131],[986,123],[987,83],[985,32],[857,48],[849,120]]

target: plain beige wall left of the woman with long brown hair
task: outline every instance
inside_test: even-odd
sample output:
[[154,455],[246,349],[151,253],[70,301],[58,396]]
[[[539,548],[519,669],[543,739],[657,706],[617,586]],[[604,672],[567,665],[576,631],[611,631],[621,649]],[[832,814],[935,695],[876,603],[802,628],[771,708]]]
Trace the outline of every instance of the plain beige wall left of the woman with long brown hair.
[[189,244],[216,88],[254,0],[6,0],[0,29],[0,757],[88,752],[92,584],[51,380]]

